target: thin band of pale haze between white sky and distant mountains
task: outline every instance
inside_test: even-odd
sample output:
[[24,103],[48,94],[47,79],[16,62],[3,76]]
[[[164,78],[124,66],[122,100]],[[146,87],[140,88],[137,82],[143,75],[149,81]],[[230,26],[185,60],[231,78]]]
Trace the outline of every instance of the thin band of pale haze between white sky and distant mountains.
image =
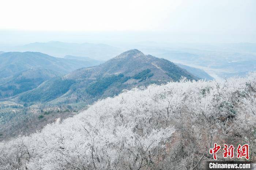
[[60,41],[67,43],[133,44],[154,42],[164,44],[227,44],[256,43],[255,35],[242,34],[182,34],[149,31],[25,31],[0,30],[0,45],[15,46],[34,42]]

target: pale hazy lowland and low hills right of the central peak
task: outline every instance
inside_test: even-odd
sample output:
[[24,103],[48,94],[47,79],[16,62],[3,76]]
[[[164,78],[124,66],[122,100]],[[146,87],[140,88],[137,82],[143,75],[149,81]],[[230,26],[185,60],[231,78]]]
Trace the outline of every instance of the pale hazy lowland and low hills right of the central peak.
[[176,63],[201,68],[215,79],[224,80],[225,77],[246,76],[248,72],[256,71],[256,53],[253,52],[256,51],[255,45],[223,44],[223,46],[216,45],[215,49],[213,48],[215,46],[211,46],[212,48],[209,48],[211,50],[192,48],[141,48],[140,50]]

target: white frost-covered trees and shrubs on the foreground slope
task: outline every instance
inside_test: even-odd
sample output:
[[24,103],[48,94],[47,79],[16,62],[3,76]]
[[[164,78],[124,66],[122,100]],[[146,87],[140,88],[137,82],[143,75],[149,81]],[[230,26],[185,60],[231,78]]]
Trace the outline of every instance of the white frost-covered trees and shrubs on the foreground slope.
[[135,88],[41,132],[1,142],[0,167],[205,169],[214,143],[248,143],[255,161],[255,114],[256,73]]

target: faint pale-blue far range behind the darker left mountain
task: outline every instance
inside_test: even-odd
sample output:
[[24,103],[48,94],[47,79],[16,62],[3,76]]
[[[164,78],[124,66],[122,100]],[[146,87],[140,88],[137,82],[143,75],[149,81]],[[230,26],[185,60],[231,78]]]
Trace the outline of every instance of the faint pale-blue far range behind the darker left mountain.
[[106,44],[65,43],[59,41],[35,42],[23,46],[4,47],[4,51],[35,51],[63,58],[65,55],[86,56],[97,60],[107,60],[122,52],[121,49]]

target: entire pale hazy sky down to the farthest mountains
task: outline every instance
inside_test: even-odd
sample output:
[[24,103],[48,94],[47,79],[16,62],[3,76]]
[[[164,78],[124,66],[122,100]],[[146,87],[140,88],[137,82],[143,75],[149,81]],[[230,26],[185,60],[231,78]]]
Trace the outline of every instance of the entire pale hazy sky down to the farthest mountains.
[[5,0],[0,5],[0,43],[111,37],[256,42],[256,0]]

